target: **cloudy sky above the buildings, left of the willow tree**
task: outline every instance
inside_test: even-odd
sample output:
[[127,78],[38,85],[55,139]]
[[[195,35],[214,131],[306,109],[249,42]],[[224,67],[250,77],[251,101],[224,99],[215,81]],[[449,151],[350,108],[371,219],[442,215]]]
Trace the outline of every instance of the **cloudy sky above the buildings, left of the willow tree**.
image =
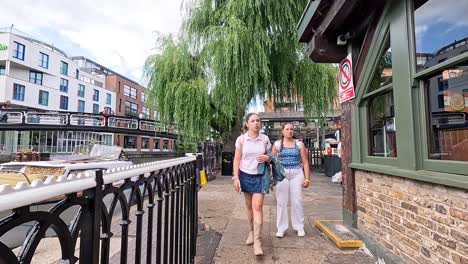
[[183,0],[2,0],[0,27],[142,81],[158,34],[177,34]]

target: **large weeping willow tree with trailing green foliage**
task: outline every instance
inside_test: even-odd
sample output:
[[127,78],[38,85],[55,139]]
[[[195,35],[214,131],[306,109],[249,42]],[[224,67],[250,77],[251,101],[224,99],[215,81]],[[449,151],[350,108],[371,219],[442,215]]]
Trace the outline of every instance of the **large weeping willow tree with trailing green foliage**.
[[336,97],[336,70],[313,64],[298,44],[296,24],[308,0],[186,2],[177,38],[159,41],[146,62],[149,100],[185,139],[219,132],[227,149],[257,96],[303,101],[323,117]]

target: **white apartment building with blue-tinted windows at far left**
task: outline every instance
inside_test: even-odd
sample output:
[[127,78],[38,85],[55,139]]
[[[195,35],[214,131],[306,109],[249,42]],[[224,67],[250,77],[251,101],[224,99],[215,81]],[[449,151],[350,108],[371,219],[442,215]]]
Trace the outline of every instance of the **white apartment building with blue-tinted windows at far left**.
[[[99,113],[116,94],[105,76],[81,71],[65,52],[31,37],[0,32],[0,105],[9,108]],[[0,151],[21,148],[69,153],[87,142],[112,143],[113,134],[75,131],[0,132]]]

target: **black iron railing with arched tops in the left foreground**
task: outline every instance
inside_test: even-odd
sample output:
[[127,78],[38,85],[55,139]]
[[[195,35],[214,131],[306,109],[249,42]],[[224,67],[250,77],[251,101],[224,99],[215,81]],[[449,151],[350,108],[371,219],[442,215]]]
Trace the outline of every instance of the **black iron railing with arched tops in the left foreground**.
[[[21,207],[12,208],[12,213],[0,220],[0,263],[30,263],[49,229],[60,242],[60,248],[49,251],[60,251],[62,263],[194,263],[200,162],[184,159],[188,158],[99,170],[94,177],[69,176],[54,184],[46,180],[30,187],[33,191],[29,192],[18,185],[18,190],[7,191],[0,186],[0,199],[21,197],[22,192],[52,198],[46,188],[55,190],[54,186],[54,199],[64,195],[49,210],[34,211],[37,203],[23,206],[26,202],[19,202]],[[86,188],[75,187],[80,185]],[[27,200],[32,201],[31,197]],[[51,204],[50,198],[48,201]],[[72,207],[77,208],[76,213],[67,224],[62,214]],[[5,203],[0,208],[6,208]],[[7,232],[31,222],[34,224],[19,251],[2,240]],[[110,255],[110,242],[117,235],[120,256],[116,259]]]

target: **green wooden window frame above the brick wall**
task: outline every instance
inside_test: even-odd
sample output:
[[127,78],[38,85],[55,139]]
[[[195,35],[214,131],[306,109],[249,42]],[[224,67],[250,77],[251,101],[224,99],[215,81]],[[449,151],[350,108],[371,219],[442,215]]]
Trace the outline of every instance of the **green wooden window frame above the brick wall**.
[[[367,93],[369,81],[390,35],[393,64],[392,85]],[[431,183],[468,189],[468,162],[428,158],[425,77],[461,62],[468,53],[450,58],[436,66],[416,72],[413,2],[390,1],[375,28],[361,76],[356,83],[356,98],[351,103],[352,163],[350,167]],[[395,102],[398,156],[369,156],[367,102],[373,96],[392,90]]]

